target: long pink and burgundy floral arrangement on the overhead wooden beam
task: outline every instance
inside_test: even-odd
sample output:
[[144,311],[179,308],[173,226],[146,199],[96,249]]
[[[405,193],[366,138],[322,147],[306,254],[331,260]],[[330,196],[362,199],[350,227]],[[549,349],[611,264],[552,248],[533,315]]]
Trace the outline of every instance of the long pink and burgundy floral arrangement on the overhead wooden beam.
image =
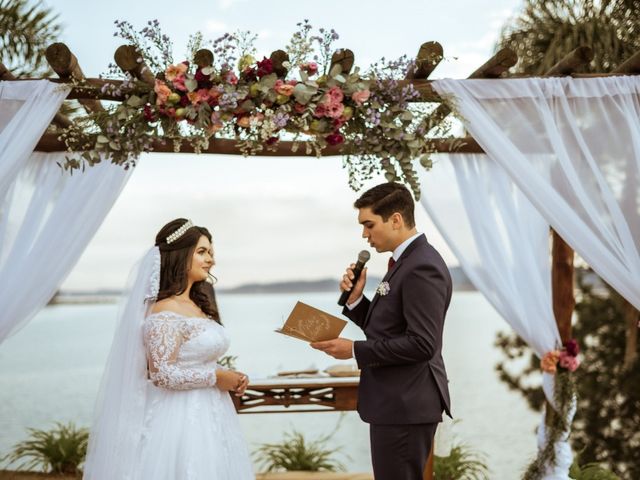
[[[234,139],[244,155],[288,140],[292,151],[304,145],[306,154],[317,156],[327,146],[341,146],[354,189],[384,173],[419,197],[414,160],[430,168],[427,134],[448,133],[446,122],[432,124],[433,105],[416,102],[413,85],[398,82],[415,68],[412,59],[382,59],[366,75],[357,67],[343,69],[344,63],[331,63],[338,34],[322,28],[313,34],[307,20],[298,24],[280,57],[259,59],[255,35],[239,32],[210,45],[214,58],[207,65],[193,61],[205,46],[199,33],[189,41],[190,60],[174,62],[171,41],[157,21],[140,32],[128,22],[116,26],[115,36],[136,47],[155,84],[144,90],[138,82],[124,102],[64,130],[60,138],[69,151],[86,150],[80,160],[67,158],[66,169],[91,166],[102,155],[129,168],[160,138],[173,141],[175,151],[186,141],[196,152],[208,148],[212,138]],[[123,75],[122,85],[106,84],[103,90],[121,93],[136,85],[131,75],[110,66],[110,77]]]

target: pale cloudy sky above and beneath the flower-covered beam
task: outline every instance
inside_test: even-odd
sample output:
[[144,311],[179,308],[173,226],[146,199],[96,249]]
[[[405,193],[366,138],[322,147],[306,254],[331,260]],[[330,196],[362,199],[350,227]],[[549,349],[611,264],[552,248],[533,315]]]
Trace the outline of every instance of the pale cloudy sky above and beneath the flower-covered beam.
[[[487,61],[503,24],[520,0],[46,0],[59,14],[61,41],[88,77],[106,72],[123,42],[115,20],[142,28],[158,19],[182,60],[190,34],[213,40],[224,32],[258,34],[259,55],[283,48],[296,23],[334,28],[337,48],[350,48],[362,69],[380,57],[414,56],[435,40],[445,60],[431,78],[464,78]],[[365,188],[384,181],[371,180]],[[428,195],[429,192],[423,192]],[[157,231],[177,217],[190,218],[213,235],[218,286],[295,279],[338,278],[357,253],[361,238],[347,171],[339,157],[273,158],[150,154],[140,159],[63,290],[121,288],[133,263],[152,246]],[[450,265],[458,262],[421,205],[418,230]],[[373,255],[372,274],[382,276],[388,254]]]

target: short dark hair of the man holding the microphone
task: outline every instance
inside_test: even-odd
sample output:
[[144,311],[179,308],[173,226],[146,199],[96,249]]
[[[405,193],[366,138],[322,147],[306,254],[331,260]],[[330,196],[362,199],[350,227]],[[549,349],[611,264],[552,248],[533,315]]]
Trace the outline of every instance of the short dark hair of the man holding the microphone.
[[413,197],[411,192],[401,183],[387,182],[370,188],[355,201],[355,208],[371,208],[375,215],[380,215],[385,222],[398,212],[402,215],[408,228],[416,226],[413,217]]

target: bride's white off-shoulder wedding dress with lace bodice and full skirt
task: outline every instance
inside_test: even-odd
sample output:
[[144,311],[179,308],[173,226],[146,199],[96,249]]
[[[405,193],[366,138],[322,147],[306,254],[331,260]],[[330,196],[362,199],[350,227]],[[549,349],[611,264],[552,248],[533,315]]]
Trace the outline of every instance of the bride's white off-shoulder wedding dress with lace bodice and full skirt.
[[216,387],[218,359],[229,348],[221,325],[164,311],[149,315],[150,359],[140,480],[254,479],[228,392]]

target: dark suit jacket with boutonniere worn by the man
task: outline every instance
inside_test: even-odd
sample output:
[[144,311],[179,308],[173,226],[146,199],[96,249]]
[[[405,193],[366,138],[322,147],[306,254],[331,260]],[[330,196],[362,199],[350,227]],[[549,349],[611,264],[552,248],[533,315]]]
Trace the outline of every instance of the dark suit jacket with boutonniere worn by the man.
[[361,369],[358,413],[373,424],[434,423],[449,416],[442,330],[451,276],[440,254],[420,235],[387,272],[387,295],[366,297],[343,314],[364,331],[354,351]]

